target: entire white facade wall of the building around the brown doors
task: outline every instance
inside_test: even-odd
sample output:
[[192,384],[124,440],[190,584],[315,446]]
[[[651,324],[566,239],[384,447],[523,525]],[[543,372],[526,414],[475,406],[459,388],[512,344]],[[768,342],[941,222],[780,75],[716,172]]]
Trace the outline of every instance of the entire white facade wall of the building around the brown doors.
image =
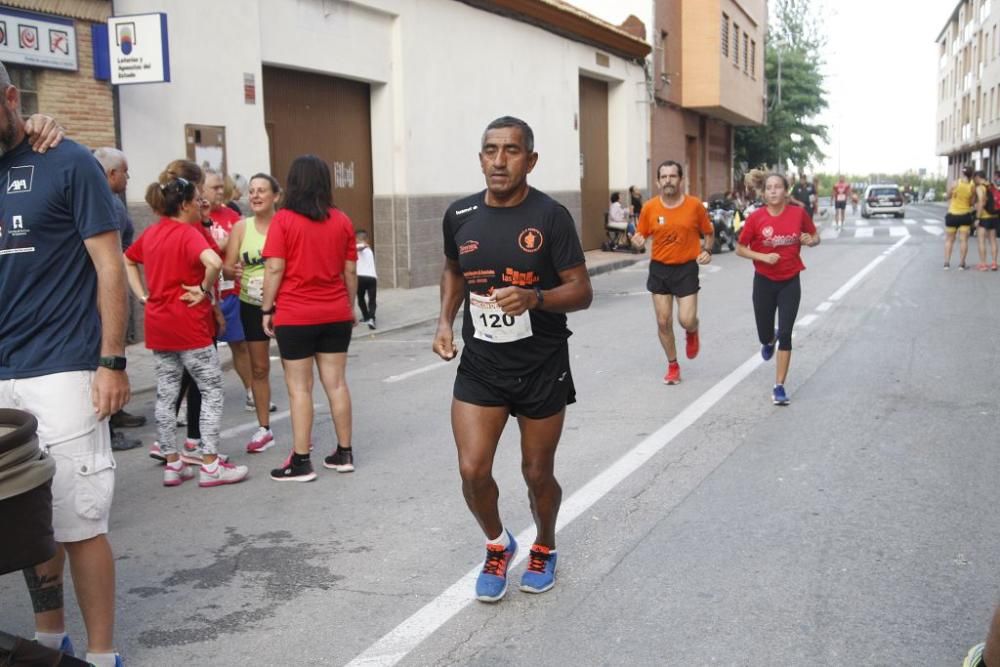
[[[649,116],[642,67],[454,0],[116,0],[119,15],[166,11],[169,84],[122,86],[130,200],[185,155],[184,124],[226,127],[231,172],[267,170],[261,63],[367,81],[374,192],[434,195],[484,186],[476,154],[502,115],[535,131],[543,190],[580,187],[578,77],[609,82],[611,185],[645,182]],[[243,101],[243,73],[257,104]]]

